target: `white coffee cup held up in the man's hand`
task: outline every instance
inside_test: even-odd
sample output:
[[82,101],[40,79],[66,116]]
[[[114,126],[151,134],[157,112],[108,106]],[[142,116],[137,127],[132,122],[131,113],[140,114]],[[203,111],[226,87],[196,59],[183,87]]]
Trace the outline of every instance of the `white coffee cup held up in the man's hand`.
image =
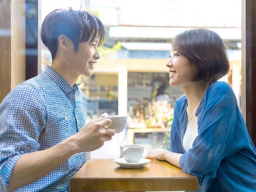
[[110,119],[112,121],[111,125],[108,126],[109,129],[114,129],[116,133],[120,133],[127,124],[127,116],[109,115],[103,116],[102,119]]

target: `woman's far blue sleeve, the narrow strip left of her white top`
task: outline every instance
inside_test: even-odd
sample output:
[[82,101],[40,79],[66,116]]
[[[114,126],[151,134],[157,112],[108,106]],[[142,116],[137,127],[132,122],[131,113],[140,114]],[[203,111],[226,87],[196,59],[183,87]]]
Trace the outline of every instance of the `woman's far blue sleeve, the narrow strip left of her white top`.
[[169,151],[174,153],[184,153],[183,146],[181,145],[181,133],[180,133],[180,123],[179,123],[179,100],[174,104],[173,121],[170,134],[170,146]]

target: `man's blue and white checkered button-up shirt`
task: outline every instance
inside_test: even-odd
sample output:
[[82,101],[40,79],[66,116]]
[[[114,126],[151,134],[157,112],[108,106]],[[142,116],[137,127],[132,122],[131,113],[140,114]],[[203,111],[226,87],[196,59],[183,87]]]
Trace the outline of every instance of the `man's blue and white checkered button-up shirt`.
[[[49,65],[43,73],[15,87],[0,105],[0,191],[25,153],[50,148],[76,134],[87,117],[86,96]],[[68,191],[69,178],[87,160],[77,153],[45,177],[17,191]]]

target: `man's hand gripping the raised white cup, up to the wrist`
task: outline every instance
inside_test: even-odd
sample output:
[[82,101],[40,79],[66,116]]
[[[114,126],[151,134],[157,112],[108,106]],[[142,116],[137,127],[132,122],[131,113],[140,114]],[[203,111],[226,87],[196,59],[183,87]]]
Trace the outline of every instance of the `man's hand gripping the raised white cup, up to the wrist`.
[[105,141],[111,140],[115,130],[106,128],[110,124],[110,119],[102,120],[100,117],[90,121],[77,134],[72,135],[70,139],[75,145],[76,153],[94,151],[102,147]]

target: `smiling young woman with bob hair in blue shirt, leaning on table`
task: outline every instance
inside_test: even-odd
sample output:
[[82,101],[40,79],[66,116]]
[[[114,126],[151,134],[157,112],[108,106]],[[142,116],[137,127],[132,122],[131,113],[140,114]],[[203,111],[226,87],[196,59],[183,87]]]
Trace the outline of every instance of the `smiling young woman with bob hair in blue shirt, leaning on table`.
[[174,105],[169,151],[156,148],[146,158],[166,160],[199,179],[198,191],[256,191],[256,150],[228,83],[229,70],[219,35],[205,28],[172,40],[171,86],[185,93]]

